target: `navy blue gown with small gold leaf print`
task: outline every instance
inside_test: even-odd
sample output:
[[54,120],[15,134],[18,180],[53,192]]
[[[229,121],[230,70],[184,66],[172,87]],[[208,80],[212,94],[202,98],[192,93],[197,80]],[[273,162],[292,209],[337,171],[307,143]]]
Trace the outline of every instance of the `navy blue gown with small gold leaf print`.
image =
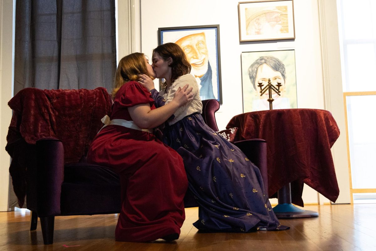
[[[156,106],[165,100],[152,90]],[[205,231],[285,230],[264,192],[261,173],[244,153],[194,113],[165,123],[163,142],[183,158],[188,189],[199,204],[194,226]]]

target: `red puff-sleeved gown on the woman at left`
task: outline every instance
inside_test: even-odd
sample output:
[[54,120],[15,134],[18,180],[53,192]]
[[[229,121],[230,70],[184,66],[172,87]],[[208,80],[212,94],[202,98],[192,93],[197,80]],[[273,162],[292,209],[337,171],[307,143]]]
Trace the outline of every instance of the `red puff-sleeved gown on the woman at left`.
[[[127,82],[115,96],[111,119],[130,121],[128,107],[144,103],[155,109],[144,87]],[[120,175],[124,200],[116,240],[147,242],[180,234],[188,181],[176,151],[149,132],[108,125],[94,138],[88,162],[111,167]]]

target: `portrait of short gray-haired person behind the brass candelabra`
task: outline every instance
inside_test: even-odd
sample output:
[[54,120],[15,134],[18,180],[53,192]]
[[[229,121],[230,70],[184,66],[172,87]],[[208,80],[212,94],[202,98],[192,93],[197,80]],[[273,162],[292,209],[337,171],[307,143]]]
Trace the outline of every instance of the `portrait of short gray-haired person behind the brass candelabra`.
[[272,92],[273,110],[297,108],[295,50],[242,52],[241,73],[244,113],[269,110],[268,92],[260,96],[258,84],[265,87],[269,79],[282,84],[280,95]]

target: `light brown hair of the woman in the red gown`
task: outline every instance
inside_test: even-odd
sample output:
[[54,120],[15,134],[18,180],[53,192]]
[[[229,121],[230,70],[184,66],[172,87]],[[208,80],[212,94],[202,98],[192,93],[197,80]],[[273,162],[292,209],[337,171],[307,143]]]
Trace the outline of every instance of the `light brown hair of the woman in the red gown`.
[[152,78],[147,71],[144,53],[135,52],[120,59],[115,73],[115,87],[111,91],[112,97],[126,82],[137,81],[139,74]]

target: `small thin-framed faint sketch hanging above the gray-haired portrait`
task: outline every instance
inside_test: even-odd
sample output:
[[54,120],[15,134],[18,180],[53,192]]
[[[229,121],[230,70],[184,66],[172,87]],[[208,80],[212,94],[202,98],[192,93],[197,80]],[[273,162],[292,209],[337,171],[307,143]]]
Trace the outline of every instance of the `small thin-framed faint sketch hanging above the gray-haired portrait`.
[[239,2],[240,42],[295,39],[293,0]]

